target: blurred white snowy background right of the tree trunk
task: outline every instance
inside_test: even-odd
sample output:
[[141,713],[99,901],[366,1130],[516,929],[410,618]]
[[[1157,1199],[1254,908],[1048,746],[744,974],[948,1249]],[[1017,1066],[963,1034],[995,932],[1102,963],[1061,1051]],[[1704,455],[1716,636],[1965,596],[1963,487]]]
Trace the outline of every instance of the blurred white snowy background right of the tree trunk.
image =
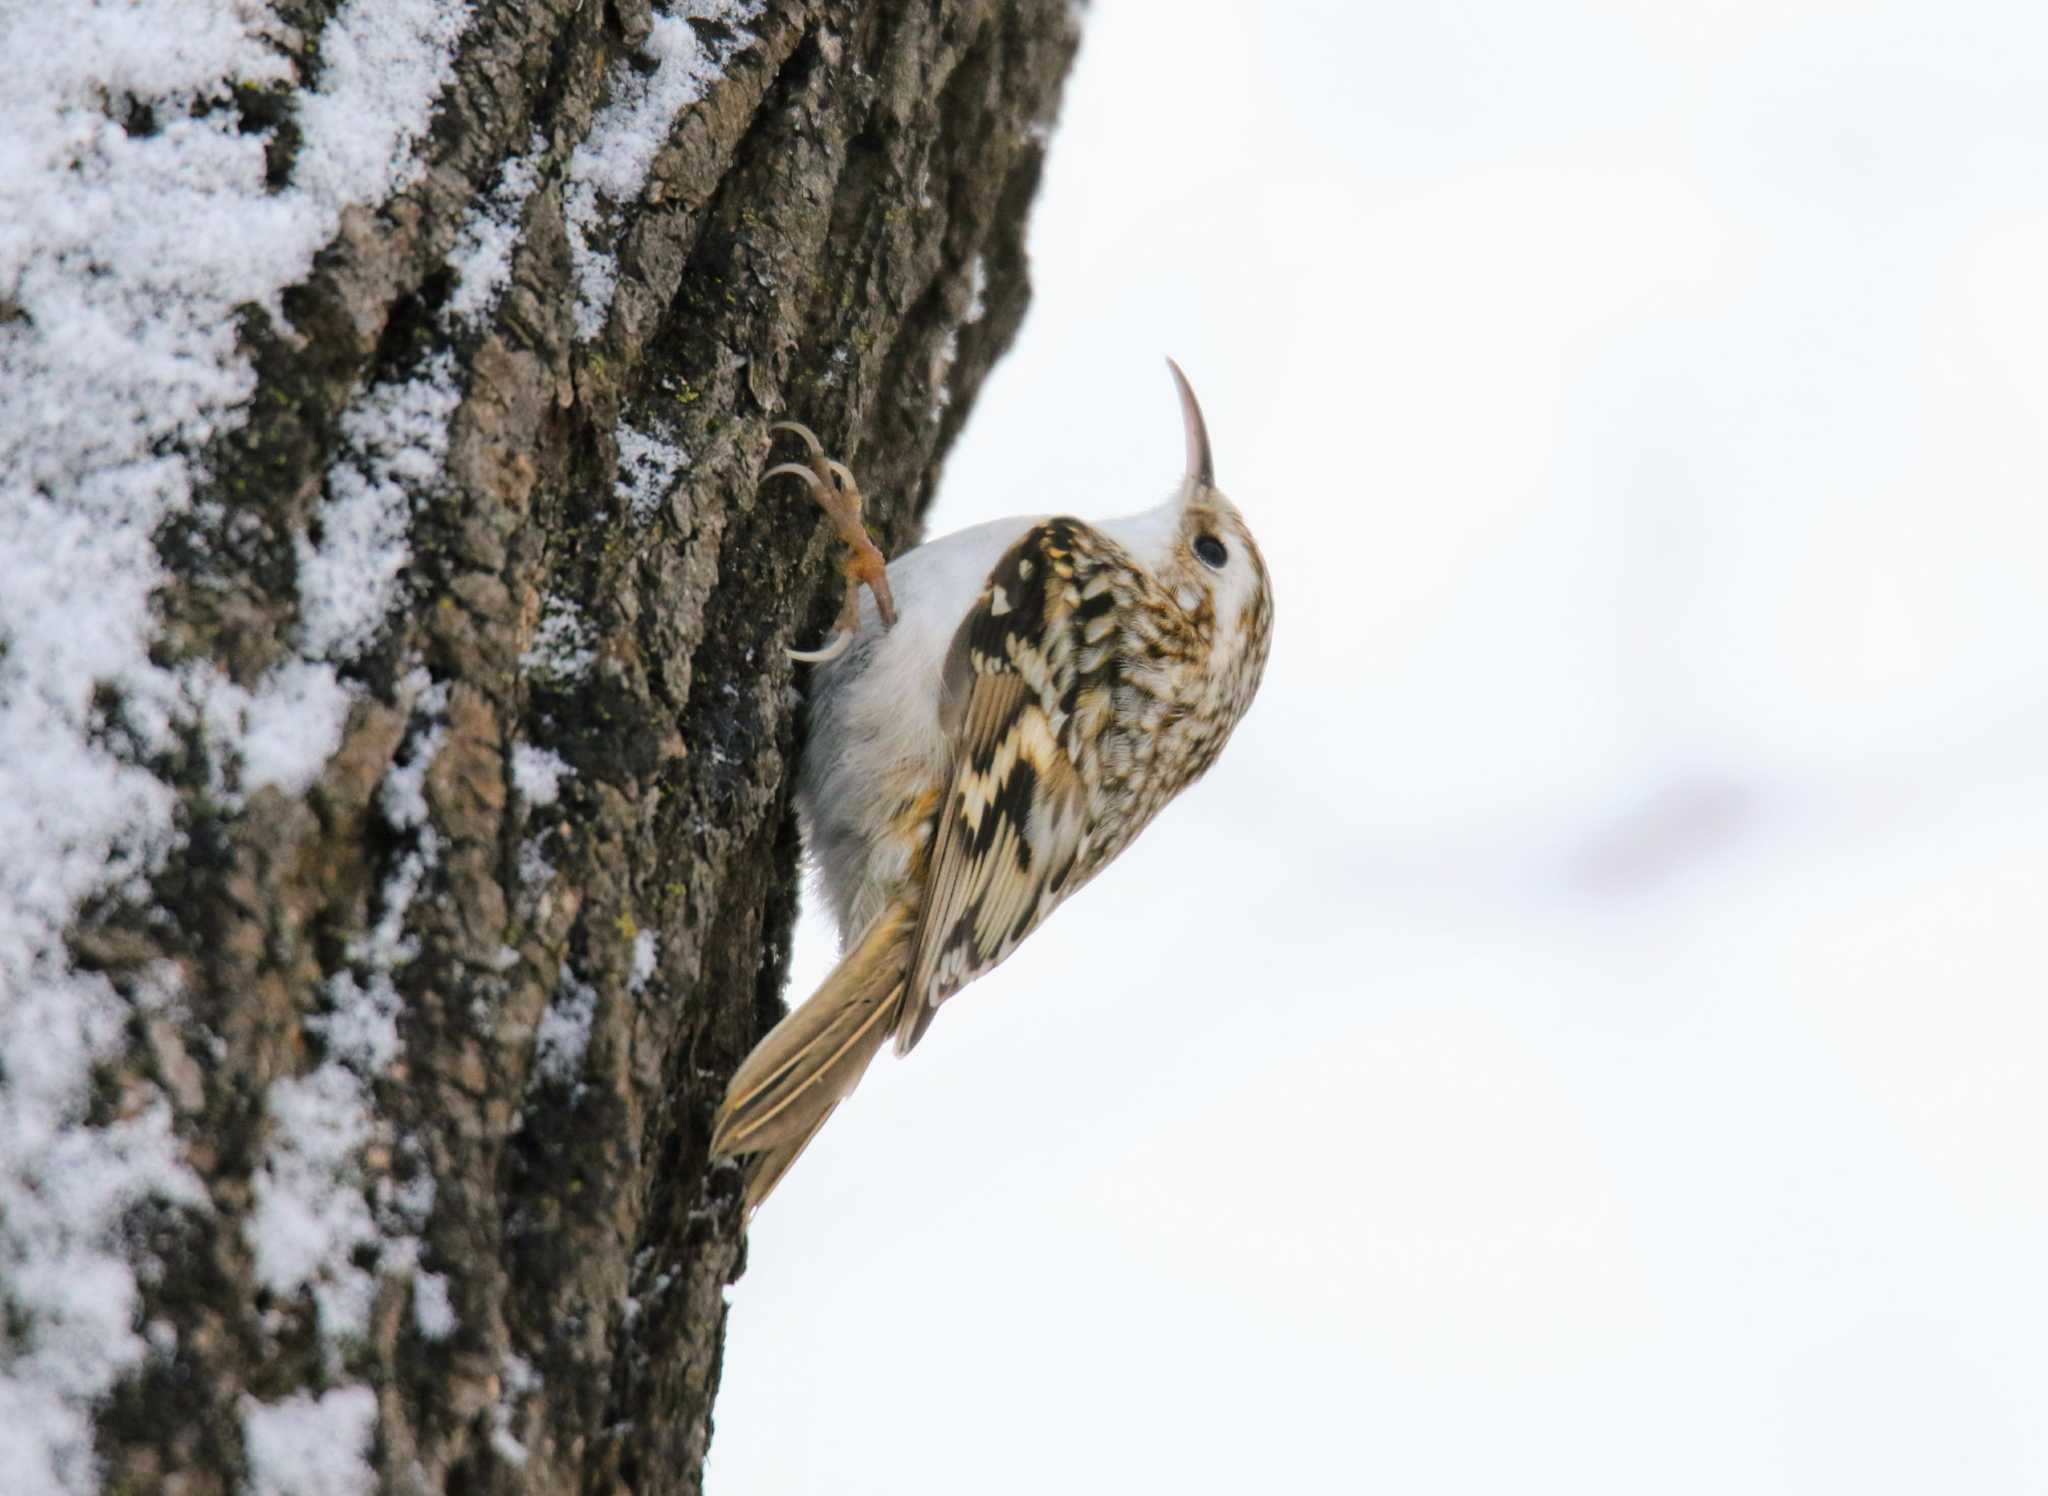
[[762,1211],[711,1490],[2048,1490],[2048,8],[1106,0],[1032,252],[932,531],[1174,352],[1272,668]]

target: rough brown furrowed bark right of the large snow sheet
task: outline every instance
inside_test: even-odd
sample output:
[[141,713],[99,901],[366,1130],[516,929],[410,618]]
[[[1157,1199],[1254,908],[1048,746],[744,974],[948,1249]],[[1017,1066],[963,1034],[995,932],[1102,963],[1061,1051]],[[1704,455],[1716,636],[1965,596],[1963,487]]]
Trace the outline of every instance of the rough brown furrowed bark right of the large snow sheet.
[[[295,78],[227,105],[281,191],[344,8],[281,0]],[[393,1492],[700,1488],[743,1262],[705,1139],[782,1004],[782,646],[838,598],[811,500],[758,482],[766,426],[811,424],[901,549],[1024,311],[1067,0],[459,20],[424,170],[342,213],[283,316],[242,309],[254,396],[154,533],[154,664],[256,691],[326,660],[338,748],[301,793],[203,728],[129,742],[102,693],[98,748],[168,787],[176,838],[41,957],[121,1004],[66,1127],[162,1111],[199,1189],[94,1246],[133,1266],[147,1350],[78,1394],[72,1488],[313,1488],[350,1459]],[[680,47],[696,98],[668,107]],[[106,111],[172,125],[119,86]],[[600,148],[649,121],[633,180]],[[0,324],[39,316],[0,285]],[[369,490],[403,498],[389,609],[313,617]],[[10,1287],[0,1371],[39,1314]]]

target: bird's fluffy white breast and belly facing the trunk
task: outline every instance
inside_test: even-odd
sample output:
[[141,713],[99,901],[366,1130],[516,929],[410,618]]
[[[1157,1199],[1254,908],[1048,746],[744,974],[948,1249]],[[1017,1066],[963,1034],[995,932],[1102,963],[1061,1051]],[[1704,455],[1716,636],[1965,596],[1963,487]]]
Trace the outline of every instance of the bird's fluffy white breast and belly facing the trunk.
[[811,682],[811,738],[797,779],[797,814],[825,898],[852,941],[903,877],[913,844],[891,834],[897,803],[881,785],[944,783],[938,723],[946,650],[989,572],[1042,514],[973,525],[889,564],[895,627],[860,598],[860,631]]

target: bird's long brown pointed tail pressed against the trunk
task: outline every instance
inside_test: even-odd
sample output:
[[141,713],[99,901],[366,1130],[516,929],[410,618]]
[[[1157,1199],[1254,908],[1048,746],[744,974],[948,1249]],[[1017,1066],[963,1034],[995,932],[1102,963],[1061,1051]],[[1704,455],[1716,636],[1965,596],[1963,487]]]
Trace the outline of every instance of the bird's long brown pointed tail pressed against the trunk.
[[743,1160],[750,1215],[897,1027],[913,924],[901,904],[885,910],[811,1000],[733,1072],[711,1127],[711,1156]]

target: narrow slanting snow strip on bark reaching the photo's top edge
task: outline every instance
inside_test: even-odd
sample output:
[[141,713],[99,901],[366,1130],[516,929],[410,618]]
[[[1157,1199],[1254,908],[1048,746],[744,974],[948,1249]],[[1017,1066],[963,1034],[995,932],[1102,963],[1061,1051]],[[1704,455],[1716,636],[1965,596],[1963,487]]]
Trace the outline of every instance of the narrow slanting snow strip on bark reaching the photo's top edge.
[[[754,33],[741,23],[760,12],[762,0],[682,0],[668,14],[653,16],[641,59],[612,64],[606,105],[569,156],[563,191],[575,271],[575,336],[604,332],[612,309],[618,287],[618,260],[606,248],[612,213],[639,199],[676,115],[705,96],[705,86],[725,72],[735,53],[754,45]],[[692,20],[717,20],[727,35],[707,41]],[[645,61],[653,70],[645,70]]]

